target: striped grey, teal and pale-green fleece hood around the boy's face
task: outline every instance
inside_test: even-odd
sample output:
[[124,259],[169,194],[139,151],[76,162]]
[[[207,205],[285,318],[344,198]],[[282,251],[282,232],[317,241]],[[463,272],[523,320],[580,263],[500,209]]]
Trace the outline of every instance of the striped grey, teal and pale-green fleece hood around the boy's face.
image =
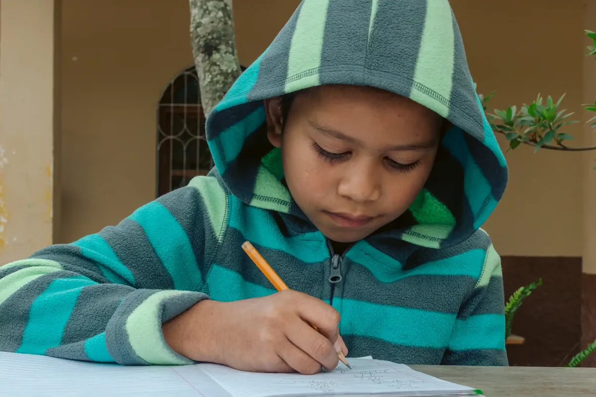
[[207,118],[215,167],[233,195],[305,218],[285,187],[280,151],[266,137],[263,99],[328,84],[395,92],[454,125],[392,237],[443,248],[482,226],[505,190],[507,165],[448,0],[303,0]]

